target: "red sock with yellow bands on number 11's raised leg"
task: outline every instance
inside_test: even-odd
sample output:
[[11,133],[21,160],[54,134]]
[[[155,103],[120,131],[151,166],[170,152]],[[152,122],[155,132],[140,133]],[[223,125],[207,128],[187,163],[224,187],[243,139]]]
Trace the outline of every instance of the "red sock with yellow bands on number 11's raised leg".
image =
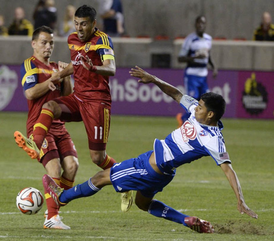
[[53,112],[42,108],[40,116],[33,126],[33,140],[37,147],[41,149],[44,139],[50,129],[51,123],[54,119]]

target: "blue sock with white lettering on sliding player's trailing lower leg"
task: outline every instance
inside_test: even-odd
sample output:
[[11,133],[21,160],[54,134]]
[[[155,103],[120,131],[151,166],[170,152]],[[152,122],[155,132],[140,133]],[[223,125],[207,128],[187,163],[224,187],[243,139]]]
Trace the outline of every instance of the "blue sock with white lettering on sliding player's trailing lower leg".
[[188,225],[184,222],[185,217],[189,217],[183,213],[178,212],[177,210],[167,206],[166,204],[153,199],[151,204],[148,208],[148,213],[156,216],[156,217],[163,217],[164,219],[182,223],[184,226],[188,227]]

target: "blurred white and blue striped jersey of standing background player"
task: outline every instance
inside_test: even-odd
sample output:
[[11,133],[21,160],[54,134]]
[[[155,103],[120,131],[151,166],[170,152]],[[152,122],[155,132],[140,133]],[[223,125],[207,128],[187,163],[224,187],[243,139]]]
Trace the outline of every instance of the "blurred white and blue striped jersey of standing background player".
[[212,37],[206,33],[203,37],[199,37],[195,32],[189,34],[182,44],[179,52],[180,56],[194,57],[196,54],[205,53],[207,57],[204,59],[194,59],[194,62],[188,63],[186,67],[186,74],[205,77],[208,75],[208,59],[209,51],[212,46]]

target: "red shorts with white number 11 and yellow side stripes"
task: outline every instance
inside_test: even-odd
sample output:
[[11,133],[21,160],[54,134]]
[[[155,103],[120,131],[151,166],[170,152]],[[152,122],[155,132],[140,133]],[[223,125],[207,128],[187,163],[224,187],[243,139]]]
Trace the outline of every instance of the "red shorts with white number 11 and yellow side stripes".
[[62,113],[60,120],[64,122],[83,121],[88,135],[90,150],[106,150],[110,129],[110,107],[101,102],[84,102],[74,94],[53,99]]

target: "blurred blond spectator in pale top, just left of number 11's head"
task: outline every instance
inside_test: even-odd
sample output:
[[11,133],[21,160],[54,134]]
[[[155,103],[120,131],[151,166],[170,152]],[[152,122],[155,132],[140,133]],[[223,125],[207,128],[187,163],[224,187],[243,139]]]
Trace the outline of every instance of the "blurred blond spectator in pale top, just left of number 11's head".
[[72,32],[75,32],[75,27],[74,27],[75,11],[76,9],[73,5],[67,5],[64,21],[61,24],[61,28],[59,32],[60,36],[68,37]]

